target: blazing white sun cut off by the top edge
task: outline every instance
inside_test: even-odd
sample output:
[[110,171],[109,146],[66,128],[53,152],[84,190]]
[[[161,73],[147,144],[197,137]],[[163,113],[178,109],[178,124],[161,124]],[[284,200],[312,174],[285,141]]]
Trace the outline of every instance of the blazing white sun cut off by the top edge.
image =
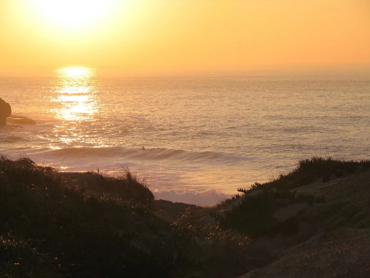
[[37,14],[62,29],[99,24],[113,11],[114,0],[31,0]]

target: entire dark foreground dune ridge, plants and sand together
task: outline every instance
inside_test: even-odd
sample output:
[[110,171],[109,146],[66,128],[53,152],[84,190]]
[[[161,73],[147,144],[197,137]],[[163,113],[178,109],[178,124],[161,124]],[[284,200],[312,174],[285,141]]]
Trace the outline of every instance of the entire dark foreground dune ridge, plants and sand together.
[[0,158],[0,277],[367,277],[370,161],[312,158],[212,208],[128,169]]

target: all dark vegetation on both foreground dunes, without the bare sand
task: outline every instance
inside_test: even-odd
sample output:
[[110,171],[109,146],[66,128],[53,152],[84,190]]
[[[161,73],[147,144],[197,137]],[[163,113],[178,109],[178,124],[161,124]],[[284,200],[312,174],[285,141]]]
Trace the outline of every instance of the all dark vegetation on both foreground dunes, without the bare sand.
[[[145,182],[128,169],[115,178],[99,171],[60,173],[28,158],[11,161],[2,156],[0,276],[237,276],[270,260],[248,246],[254,237],[281,228],[274,217],[277,209],[325,201],[292,189],[369,166],[370,161],[302,160],[292,172],[239,188],[243,194],[214,208],[188,207],[168,218],[157,210],[158,201]],[[218,223],[202,222],[207,217],[215,221],[209,211]],[[323,211],[320,217],[332,215],[333,226],[370,223],[354,203],[333,203]],[[282,228],[294,232],[299,220],[289,221]]]

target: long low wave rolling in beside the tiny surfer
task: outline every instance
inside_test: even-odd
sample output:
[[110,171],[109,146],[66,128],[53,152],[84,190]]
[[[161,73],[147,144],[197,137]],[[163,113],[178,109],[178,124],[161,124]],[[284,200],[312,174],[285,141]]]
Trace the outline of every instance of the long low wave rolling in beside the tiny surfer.
[[191,152],[186,150],[174,150],[166,148],[147,148],[145,151],[141,149],[128,149],[122,147],[73,147],[64,149],[53,149],[49,152],[58,156],[105,156],[111,157],[116,156],[126,160],[168,160],[178,162],[223,162],[223,163],[235,163],[241,160],[247,160],[247,157],[236,156],[221,152]]

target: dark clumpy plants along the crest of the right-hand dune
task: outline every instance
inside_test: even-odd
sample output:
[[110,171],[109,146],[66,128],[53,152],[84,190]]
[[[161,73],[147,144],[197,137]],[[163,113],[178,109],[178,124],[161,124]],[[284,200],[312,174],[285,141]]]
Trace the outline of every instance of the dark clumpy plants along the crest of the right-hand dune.
[[[331,177],[341,177],[358,169],[367,170],[370,160],[340,161],[321,157],[301,160],[298,167],[288,174],[266,183],[254,183],[250,188],[239,188],[235,197],[224,200],[217,208],[224,211],[211,212],[225,229],[233,228],[243,234],[255,237],[268,233],[277,223],[273,214],[277,208],[292,203],[322,203],[324,197],[292,191],[319,179],[328,182]],[[236,201],[238,200],[238,201]]]

